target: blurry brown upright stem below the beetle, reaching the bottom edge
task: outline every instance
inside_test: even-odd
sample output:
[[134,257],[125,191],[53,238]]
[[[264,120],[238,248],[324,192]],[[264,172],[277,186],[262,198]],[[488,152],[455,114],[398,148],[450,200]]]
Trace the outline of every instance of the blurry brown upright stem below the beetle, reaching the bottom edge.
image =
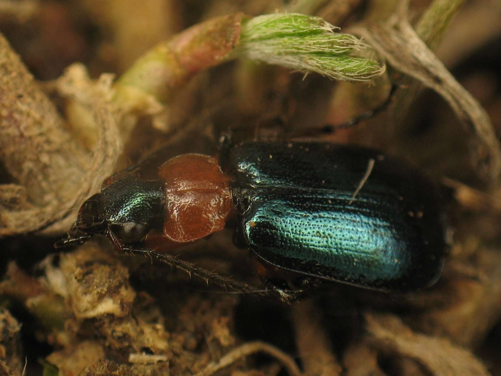
[[306,374],[318,376],[340,375],[331,342],[322,325],[321,310],[314,300],[299,302],[292,307],[296,329],[296,344]]

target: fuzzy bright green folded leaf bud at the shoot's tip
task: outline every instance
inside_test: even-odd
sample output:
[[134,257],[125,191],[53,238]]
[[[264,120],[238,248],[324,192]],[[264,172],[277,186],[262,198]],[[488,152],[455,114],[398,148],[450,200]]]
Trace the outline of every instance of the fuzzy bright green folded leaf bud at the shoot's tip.
[[242,25],[238,53],[253,60],[348,81],[372,80],[385,67],[375,60],[353,56],[367,48],[351,34],[320,17],[273,14],[254,17]]

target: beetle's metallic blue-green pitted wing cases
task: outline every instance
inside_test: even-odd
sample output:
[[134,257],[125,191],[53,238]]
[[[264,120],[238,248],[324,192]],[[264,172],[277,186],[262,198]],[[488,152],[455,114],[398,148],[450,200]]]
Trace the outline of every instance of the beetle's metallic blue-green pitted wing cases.
[[396,158],[332,143],[249,142],[230,150],[228,166],[239,233],[265,263],[391,292],[440,276],[439,195]]

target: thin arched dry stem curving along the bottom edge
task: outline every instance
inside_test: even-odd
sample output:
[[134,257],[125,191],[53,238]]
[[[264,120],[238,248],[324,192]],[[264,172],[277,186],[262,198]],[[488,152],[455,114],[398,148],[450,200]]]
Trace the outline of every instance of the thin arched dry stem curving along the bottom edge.
[[218,370],[227,367],[235,361],[256,352],[264,352],[282,363],[290,376],[301,376],[301,370],[297,366],[294,358],[279,348],[271,344],[255,341],[247,342],[234,350],[231,350],[226,355],[223,355],[219,360],[209,363],[204,369],[196,373],[195,376],[210,376]]

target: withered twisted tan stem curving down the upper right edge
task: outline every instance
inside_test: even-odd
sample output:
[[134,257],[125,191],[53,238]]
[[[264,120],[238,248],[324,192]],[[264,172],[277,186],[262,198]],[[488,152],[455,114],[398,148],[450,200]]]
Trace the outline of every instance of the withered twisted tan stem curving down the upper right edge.
[[[403,3],[405,6],[406,2]],[[458,119],[468,128],[473,128],[487,148],[488,174],[493,181],[496,181],[501,174],[501,148],[487,113],[454,79],[412,29],[406,18],[407,8],[404,6],[400,9],[398,19],[393,21],[393,25],[389,22],[371,23],[365,28],[357,28],[356,33],[363,35],[394,68],[442,95]],[[431,18],[435,16],[435,13],[429,14]],[[447,19],[450,17],[447,15]],[[421,21],[421,24],[428,25],[428,22]],[[439,30],[444,27],[443,23],[438,24]],[[430,38],[434,38],[434,41],[441,36],[440,33],[428,34]]]

